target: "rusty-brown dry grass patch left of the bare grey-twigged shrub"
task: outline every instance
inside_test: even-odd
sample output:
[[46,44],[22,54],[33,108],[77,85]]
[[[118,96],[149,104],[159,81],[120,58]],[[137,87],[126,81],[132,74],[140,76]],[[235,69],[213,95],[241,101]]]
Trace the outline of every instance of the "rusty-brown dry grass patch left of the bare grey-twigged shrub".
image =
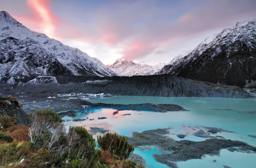
[[28,126],[10,126],[1,129],[4,133],[11,135],[16,142],[29,141],[29,127]]

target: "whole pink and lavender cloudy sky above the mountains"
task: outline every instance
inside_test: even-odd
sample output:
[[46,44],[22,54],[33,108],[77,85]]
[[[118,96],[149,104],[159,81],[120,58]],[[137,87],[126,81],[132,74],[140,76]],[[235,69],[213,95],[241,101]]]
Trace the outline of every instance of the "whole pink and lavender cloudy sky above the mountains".
[[32,31],[112,64],[168,63],[206,37],[256,19],[256,0],[0,0]]

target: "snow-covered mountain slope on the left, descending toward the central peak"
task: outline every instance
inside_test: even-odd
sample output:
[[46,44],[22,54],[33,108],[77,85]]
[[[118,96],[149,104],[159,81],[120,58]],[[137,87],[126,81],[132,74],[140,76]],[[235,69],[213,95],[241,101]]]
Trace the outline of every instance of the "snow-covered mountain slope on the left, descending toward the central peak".
[[47,35],[30,31],[0,11],[0,81],[31,75],[115,76],[100,60]]

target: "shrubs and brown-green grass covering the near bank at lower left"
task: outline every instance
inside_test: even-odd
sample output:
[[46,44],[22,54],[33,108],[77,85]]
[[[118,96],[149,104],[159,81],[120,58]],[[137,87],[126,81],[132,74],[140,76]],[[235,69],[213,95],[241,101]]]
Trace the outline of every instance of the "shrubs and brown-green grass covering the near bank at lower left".
[[30,114],[32,123],[18,126],[0,117],[1,168],[143,168],[127,160],[133,146],[116,133],[97,137],[82,126],[67,132],[61,117],[50,109]]

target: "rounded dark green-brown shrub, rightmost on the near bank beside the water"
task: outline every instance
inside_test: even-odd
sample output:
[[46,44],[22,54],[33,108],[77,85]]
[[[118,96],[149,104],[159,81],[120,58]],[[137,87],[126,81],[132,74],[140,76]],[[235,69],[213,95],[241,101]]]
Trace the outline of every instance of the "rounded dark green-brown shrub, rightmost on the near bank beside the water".
[[121,159],[127,159],[134,151],[132,144],[128,144],[125,137],[119,137],[117,133],[106,133],[105,135],[97,136],[98,147],[103,150],[109,150],[110,153],[116,154]]

